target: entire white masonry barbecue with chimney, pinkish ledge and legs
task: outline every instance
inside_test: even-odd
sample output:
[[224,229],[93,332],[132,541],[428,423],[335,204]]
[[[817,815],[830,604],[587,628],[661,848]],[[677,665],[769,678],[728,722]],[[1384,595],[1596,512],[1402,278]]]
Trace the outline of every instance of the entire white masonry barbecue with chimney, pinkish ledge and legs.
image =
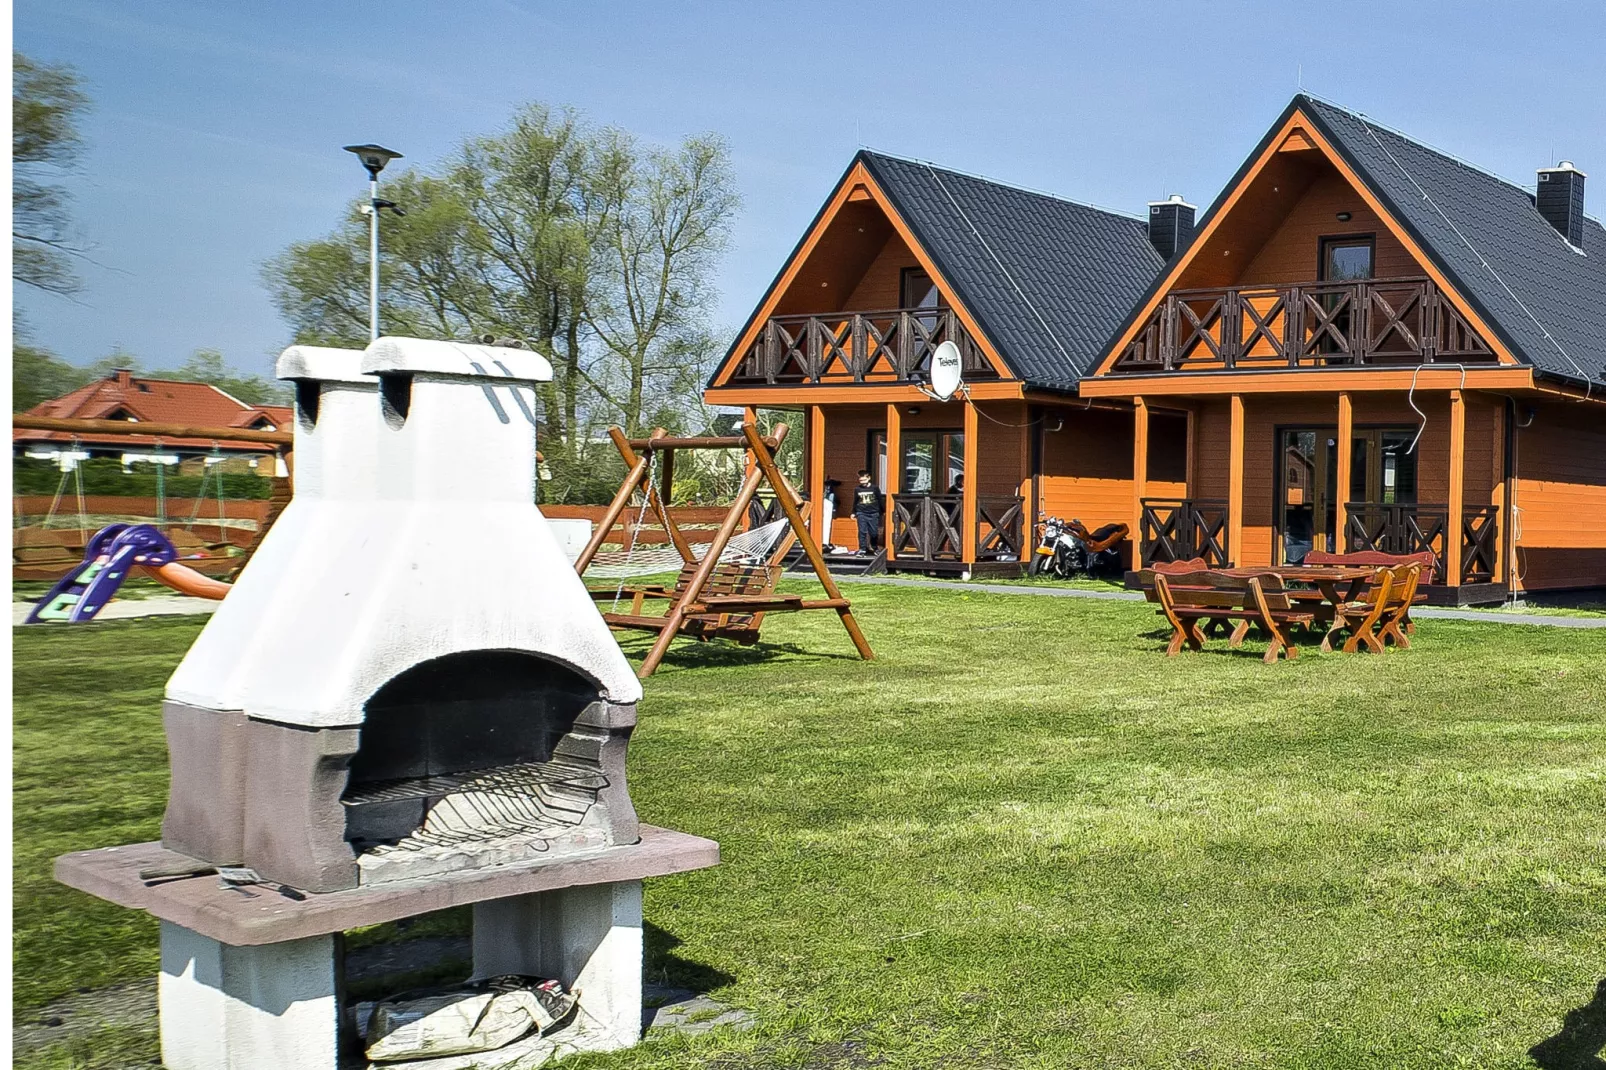
[[[458,903],[475,975],[581,990],[560,1049],[634,1043],[641,879],[718,847],[631,807],[641,683],[535,506],[551,366],[382,337],[278,374],[296,495],[169,681],[162,842],[58,877],[164,921],[172,1070],[336,1067],[339,932]],[[202,863],[262,884],[153,879]]]

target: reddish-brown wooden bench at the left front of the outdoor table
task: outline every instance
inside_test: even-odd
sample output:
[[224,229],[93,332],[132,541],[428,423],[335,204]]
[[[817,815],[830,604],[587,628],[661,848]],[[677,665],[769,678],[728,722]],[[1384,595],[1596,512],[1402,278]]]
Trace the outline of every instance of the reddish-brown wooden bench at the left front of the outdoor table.
[[1288,641],[1286,627],[1310,627],[1315,612],[1296,609],[1294,602],[1283,590],[1283,582],[1277,575],[1238,577],[1225,572],[1155,572],[1155,596],[1160,601],[1160,612],[1171,623],[1171,643],[1166,644],[1166,657],[1176,657],[1182,647],[1200,651],[1204,647],[1204,636],[1200,635],[1201,622],[1237,620],[1238,627],[1232,633],[1232,646],[1243,644],[1243,636],[1249,625],[1259,625],[1270,636],[1266,647],[1267,665],[1280,655],[1290,659],[1299,655],[1299,647]]

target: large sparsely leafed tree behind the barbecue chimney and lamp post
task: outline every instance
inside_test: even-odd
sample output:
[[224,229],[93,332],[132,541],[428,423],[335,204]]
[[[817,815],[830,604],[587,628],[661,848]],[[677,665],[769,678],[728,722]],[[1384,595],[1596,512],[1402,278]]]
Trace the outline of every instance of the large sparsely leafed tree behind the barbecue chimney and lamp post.
[[[406,210],[382,220],[381,325],[421,337],[520,339],[546,355],[540,390],[548,500],[605,498],[607,423],[633,432],[707,426],[715,355],[707,315],[737,199],[711,137],[642,149],[572,111],[532,104],[432,174],[385,182]],[[368,339],[366,199],[336,233],[263,268],[296,341]]]

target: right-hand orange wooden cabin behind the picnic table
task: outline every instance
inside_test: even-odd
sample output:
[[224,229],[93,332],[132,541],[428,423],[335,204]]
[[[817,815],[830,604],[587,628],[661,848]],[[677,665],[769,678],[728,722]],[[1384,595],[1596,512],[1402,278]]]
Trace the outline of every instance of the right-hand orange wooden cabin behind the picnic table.
[[[1606,230],[1296,96],[1079,395],[1185,421],[1142,459],[1140,561],[1431,549],[1429,598],[1606,585]],[[1164,431],[1163,434],[1171,434]]]

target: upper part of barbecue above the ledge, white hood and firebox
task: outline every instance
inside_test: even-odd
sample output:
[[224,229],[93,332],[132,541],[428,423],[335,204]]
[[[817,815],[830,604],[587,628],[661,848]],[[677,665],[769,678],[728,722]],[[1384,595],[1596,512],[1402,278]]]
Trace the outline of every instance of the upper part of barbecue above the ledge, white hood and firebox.
[[551,366],[395,337],[352,357],[279,361],[315,482],[294,549],[270,533],[169,681],[164,845],[334,892],[634,843],[641,684],[535,506]]

